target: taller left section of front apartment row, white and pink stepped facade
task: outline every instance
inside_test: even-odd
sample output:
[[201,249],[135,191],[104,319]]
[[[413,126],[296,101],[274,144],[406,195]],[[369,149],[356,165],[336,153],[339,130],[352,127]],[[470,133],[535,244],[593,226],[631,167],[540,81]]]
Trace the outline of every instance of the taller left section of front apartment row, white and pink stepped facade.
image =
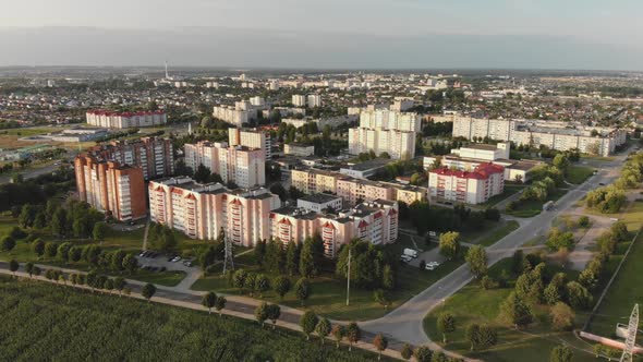
[[153,221],[193,239],[215,240],[222,230],[232,243],[247,248],[270,239],[270,212],[281,206],[266,189],[229,190],[185,177],[149,182],[148,194]]

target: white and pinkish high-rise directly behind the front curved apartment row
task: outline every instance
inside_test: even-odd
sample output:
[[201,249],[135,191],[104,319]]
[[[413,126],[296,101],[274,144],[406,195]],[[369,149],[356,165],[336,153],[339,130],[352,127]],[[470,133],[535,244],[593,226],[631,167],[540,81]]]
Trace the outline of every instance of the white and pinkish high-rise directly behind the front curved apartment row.
[[266,183],[266,154],[262,148],[228,146],[225,142],[202,141],[185,144],[185,166],[196,171],[199,165],[234,182],[240,188],[254,188]]

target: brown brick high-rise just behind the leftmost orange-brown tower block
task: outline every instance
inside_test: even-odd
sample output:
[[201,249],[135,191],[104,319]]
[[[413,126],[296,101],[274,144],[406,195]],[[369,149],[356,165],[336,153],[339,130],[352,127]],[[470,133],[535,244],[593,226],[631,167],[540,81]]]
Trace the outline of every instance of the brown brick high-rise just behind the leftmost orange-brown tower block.
[[98,159],[141,167],[146,180],[174,173],[174,153],[170,138],[112,141],[89,148],[87,154]]

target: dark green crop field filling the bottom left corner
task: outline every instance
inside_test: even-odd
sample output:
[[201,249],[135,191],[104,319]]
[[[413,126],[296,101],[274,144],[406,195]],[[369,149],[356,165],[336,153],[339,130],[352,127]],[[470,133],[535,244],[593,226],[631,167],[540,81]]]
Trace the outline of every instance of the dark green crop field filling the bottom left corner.
[[0,278],[0,319],[3,361],[376,359],[252,321],[8,277]]

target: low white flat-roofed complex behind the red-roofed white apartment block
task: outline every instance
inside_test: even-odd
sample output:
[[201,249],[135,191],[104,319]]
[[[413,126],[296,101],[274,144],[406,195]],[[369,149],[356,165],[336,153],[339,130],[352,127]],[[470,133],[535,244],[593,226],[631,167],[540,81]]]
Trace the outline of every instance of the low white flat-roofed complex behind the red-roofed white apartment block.
[[469,171],[478,165],[492,162],[505,168],[505,180],[529,181],[530,171],[544,162],[530,159],[510,159],[510,147],[511,145],[508,142],[500,142],[497,145],[471,144],[459,149],[451,149],[451,154],[446,156],[425,156],[424,169],[436,168],[437,160],[439,160],[438,167],[453,168],[461,171]]

